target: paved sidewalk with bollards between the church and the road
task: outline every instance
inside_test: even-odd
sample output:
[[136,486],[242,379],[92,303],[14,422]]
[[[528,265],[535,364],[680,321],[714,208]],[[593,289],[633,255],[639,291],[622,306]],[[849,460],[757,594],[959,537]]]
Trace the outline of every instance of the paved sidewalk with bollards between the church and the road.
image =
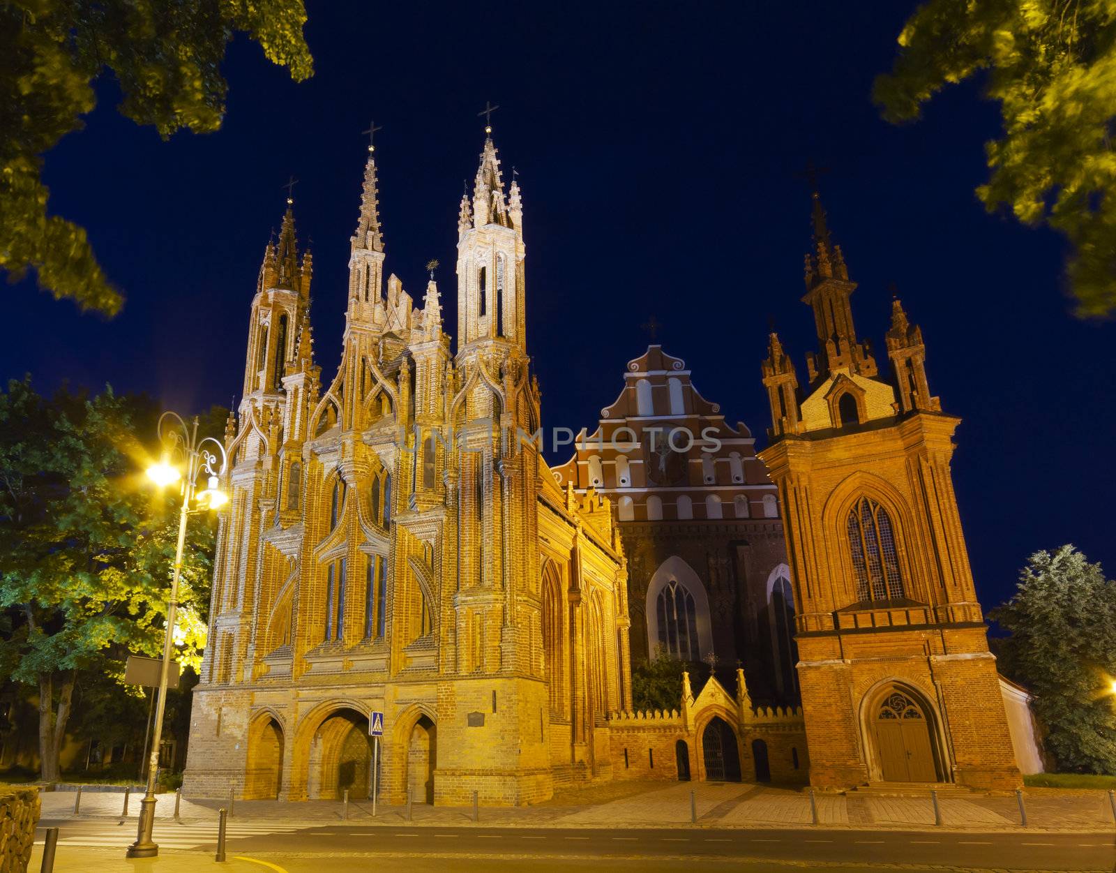
[[[562,792],[555,800],[528,807],[482,807],[480,824],[488,827],[692,827],[691,792],[699,827],[801,827],[811,824],[810,797],[805,790],[742,783],[613,783]],[[619,796],[617,796],[619,795]],[[50,792],[42,796],[42,818],[71,819],[74,792]],[[128,800],[128,818],[134,821],[142,795]],[[1116,832],[1113,810],[1105,792],[1066,792],[1033,788],[1023,792],[1028,832]],[[174,814],[174,795],[158,795],[156,817]],[[819,825],[830,828],[1020,831],[1014,796],[943,794],[939,797],[942,825],[935,827],[929,792],[921,796],[879,796],[850,792],[817,794]],[[80,818],[122,818],[123,793],[83,793]],[[227,798],[182,798],[184,822],[217,822]],[[268,821],[287,826],[316,826],[341,821],[338,800],[287,803],[282,800],[237,800],[231,821]],[[360,826],[398,826],[407,823],[406,807],[378,805],[372,816],[367,799],[350,800],[348,821]],[[471,807],[415,804],[411,824],[461,826],[472,823]]]

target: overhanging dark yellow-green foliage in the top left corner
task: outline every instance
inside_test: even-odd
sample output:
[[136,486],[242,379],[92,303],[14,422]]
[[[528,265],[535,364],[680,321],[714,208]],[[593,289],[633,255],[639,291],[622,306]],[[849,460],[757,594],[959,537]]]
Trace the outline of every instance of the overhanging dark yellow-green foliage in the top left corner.
[[10,0],[0,3],[0,269],[84,309],[123,303],[85,230],[47,213],[42,153],[83,126],[112,73],[121,112],[164,138],[215,131],[225,47],[246,31],[296,81],[312,74],[302,0]]

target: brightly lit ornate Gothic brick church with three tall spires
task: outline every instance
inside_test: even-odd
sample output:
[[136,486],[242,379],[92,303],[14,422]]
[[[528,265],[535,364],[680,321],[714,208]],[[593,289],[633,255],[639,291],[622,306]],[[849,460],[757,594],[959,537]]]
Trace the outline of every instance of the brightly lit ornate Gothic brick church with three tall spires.
[[[371,150],[369,150],[371,151]],[[458,344],[431,279],[384,279],[369,153],[346,327],[323,385],[310,255],[267,247],[230,419],[210,645],[185,790],[385,800],[549,797],[607,775],[631,708],[626,568],[606,498],[562,491],[535,444],[519,185],[484,142],[458,241]]]

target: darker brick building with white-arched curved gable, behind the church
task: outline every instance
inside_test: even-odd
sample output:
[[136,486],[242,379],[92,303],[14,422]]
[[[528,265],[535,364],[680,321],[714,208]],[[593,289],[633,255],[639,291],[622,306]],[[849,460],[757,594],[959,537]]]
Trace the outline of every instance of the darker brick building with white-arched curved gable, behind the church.
[[628,558],[632,661],[743,665],[752,697],[797,702],[795,602],[778,491],[742,423],[652,345],[555,478],[607,495]]

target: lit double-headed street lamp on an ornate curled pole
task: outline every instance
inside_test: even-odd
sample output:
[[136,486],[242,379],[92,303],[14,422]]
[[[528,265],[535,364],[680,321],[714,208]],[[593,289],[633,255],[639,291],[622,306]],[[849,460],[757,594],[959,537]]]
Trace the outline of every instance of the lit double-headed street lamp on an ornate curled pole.
[[[228,467],[224,447],[212,436],[198,439],[198,418],[186,424],[173,412],[164,412],[158,420],[158,441],[162,458],[147,468],[147,477],[164,487],[182,481],[182,509],[179,515],[179,545],[174,551],[174,575],[171,578],[171,597],[166,603],[166,627],[163,631],[163,663],[158,673],[158,702],[155,706],[155,736],[147,761],[147,793],[140,802],[140,826],[136,842],[128,846],[128,857],[154,857],[158,844],[152,840],[155,825],[155,775],[158,770],[158,747],[163,737],[163,712],[166,709],[167,670],[174,649],[174,614],[179,607],[179,576],[182,574],[182,549],[186,543],[186,519],[190,515],[218,509],[229,502],[220,481]],[[213,443],[217,451],[208,445]],[[214,470],[214,466],[220,464]],[[196,492],[198,480],[205,473],[205,489]],[[193,505],[193,507],[191,507]]]

